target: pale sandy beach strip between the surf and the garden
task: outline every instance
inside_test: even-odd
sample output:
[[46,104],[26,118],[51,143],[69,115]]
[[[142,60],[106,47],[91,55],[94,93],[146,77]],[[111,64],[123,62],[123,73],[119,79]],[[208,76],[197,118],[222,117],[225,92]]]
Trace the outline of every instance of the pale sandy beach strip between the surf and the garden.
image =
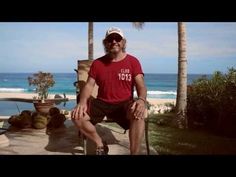
[[[48,98],[53,99],[55,94],[50,94]],[[60,95],[63,97],[63,95]],[[36,93],[18,93],[18,92],[11,92],[11,93],[0,93],[0,99],[4,98],[25,98],[25,99],[33,99],[33,97],[37,97]],[[66,98],[69,100],[75,100],[76,95],[66,95]],[[148,98],[147,101],[151,105],[150,111],[153,113],[162,113],[164,110],[169,109],[166,106],[166,103],[175,104],[175,99],[157,99],[157,98]],[[0,115],[0,118],[3,117]],[[4,116],[5,117],[5,116]]]

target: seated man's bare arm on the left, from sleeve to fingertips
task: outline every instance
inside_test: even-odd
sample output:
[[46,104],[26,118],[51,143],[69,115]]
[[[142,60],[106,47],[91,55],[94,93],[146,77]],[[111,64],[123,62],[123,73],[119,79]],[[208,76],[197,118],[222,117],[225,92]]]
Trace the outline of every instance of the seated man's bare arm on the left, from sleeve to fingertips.
[[93,88],[95,86],[95,80],[92,77],[88,77],[87,82],[80,94],[80,101],[76,107],[72,110],[71,118],[79,119],[86,114],[87,111],[87,101],[92,94]]

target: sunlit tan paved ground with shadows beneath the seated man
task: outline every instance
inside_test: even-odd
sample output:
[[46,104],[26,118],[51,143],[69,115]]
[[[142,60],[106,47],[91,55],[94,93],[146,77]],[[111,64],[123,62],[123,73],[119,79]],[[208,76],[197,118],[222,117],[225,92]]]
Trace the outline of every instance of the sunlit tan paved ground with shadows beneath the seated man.
[[[5,121],[6,122],[6,121]],[[122,129],[98,124],[98,133],[107,141],[109,155],[128,155],[128,132]],[[66,120],[63,127],[48,131],[47,129],[16,129],[10,127],[5,133],[10,145],[0,147],[1,155],[83,155],[83,148],[78,133],[71,120]],[[95,145],[88,141],[88,154],[94,154]],[[146,146],[142,144],[142,154],[146,154]],[[150,147],[150,154],[158,154]]]

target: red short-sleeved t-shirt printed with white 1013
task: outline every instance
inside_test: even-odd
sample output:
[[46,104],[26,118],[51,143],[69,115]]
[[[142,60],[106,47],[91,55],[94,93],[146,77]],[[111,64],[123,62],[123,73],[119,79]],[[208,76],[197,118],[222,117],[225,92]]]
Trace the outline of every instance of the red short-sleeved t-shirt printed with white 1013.
[[99,87],[97,98],[117,104],[133,98],[134,78],[143,71],[138,59],[129,54],[118,62],[105,55],[93,61],[88,74]]

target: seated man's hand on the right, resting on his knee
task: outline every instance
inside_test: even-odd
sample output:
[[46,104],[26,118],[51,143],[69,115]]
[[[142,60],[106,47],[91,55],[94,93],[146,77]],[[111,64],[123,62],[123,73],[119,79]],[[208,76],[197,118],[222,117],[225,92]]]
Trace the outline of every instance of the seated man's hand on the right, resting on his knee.
[[143,119],[146,103],[143,100],[136,100],[131,106],[131,112],[135,119]]

